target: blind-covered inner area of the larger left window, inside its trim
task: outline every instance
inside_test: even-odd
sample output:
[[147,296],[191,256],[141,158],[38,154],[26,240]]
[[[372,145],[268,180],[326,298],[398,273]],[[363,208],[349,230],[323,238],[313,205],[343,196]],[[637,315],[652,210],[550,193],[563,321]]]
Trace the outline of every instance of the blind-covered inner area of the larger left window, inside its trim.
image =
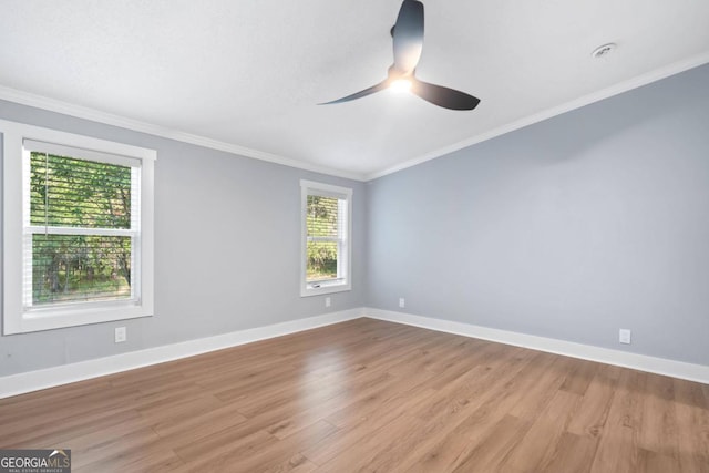
[[24,306],[137,298],[140,160],[32,140],[23,147]]

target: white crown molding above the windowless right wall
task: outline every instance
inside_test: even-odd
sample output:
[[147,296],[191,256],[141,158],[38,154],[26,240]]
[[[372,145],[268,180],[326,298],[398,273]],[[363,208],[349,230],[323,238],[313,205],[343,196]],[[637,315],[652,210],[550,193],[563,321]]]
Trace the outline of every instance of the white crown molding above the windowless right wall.
[[552,109],[544,110],[542,112],[535,113],[533,115],[528,115],[516,120],[512,123],[507,123],[497,128],[491,130],[490,132],[482,133],[475,136],[471,136],[470,138],[460,141],[449,146],[441,147],[439,150],[425,153],[421,156],[408,160],[403,163],[397,164],[391,167],[387,167],[382,171],[377,171],[364,176],[366,181],[373,181],[379,177],[386,176],[388,174],[393,174],[399,171],[403,171],[408,167],[415,166],[421,163],[425,163],[427,161],[435,160],[436,157],[442,157],[446,154],[453,153],[455,151],[462,150],[467,146],[472,146],[477,143],[482,143],[487,140],[492,140],[494,137],[504,135],[510,132],[514,132],[515,130],[523,128],[525,126],[532,125],[534,123],[543,122],[544,120],[552,119],[556,115],[561,115],[566,112],[571,112],[572,110],[580,109],[582,106],[589,105],[594,102],[599,102],[604,99],[612,97],[614,95],[621,94],[624,92],[628,92],[633,89],[640,88],[643,85],[647,85],[649,83],[659,81],[661,79],[668,78],[670,75],[679,74],[680,72],[688,71],[690,69],[697,68],[699,65],[709,63],[709,52],[698,54],[691,56],[687,60],[675,62],[665,68],[656,69],[654,71],[647,72],[641,75],[637,75],[627,81],[619,82],[609,88],[603,89],[598,92],[594,92],[587,95],[583,95],[578,99],[575,99],[571,102],[566,102],[562,105],[554,106]]

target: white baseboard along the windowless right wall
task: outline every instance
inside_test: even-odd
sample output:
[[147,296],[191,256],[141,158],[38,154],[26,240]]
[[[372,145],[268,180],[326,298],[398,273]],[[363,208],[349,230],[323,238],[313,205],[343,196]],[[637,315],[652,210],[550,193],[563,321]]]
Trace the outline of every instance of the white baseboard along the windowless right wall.
[[672,378],[681,378],[709,384],[709,367],[702,364],[686,363],[684,361],[667,360],[649,357],[647,354],[629,353],[627,351],[612,350],[609,348],[594,347],[590,345],[575,343],[573,341],[557,340],[553,338],[537,337],[533,335],[512,332],[470,323],[454,322],[452,320],[433,319],[430,317],[413,316],[410,313],[394,312],[381,309],[363,309],[364,317],[387,320],[390,322],[405,323],[408,326],[462,335],[464,337],[480,338],[496,341],[515,347],[531,348],[549,353],[564,354],[583,360],[598,361],[624,368],[665,374]]

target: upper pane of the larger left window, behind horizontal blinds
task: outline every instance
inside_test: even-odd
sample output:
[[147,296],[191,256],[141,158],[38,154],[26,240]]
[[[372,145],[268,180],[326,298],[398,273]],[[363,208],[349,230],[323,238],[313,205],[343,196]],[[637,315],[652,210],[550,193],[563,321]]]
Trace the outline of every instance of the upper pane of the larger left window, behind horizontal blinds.
[[30,224],[131,228],[131,167],[32,152]]

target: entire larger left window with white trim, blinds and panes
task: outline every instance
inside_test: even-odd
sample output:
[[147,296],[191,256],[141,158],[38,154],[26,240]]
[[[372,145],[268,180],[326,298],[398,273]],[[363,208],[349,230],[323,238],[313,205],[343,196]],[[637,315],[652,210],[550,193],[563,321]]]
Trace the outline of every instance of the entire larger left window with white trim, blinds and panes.
[[152,150],[0,121],[3,333],[153,313]]

